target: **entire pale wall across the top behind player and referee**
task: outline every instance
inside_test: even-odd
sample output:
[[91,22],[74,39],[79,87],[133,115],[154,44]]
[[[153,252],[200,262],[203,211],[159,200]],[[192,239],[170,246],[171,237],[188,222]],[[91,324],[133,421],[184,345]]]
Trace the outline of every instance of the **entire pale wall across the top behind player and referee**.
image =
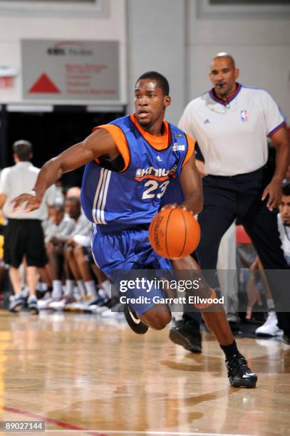
[[[185,104],[210,87],[209,61],[229,51],[240,81],[266,88],[290,120],[290,18],[200,18],[197,0],[110,0],[107,18],[0,16],[0,66],[19,69],[13,90],[0,90],[0,103],[21,102],[21,38],[118,39],[122,100],[133,110],[133,85],[154,69],[170,81],[167,119],[177,123]],[[127,14],[127,24],[126,17]],[[128,91],[127,91],[128,89]],[[86,104],[86,102],[83,102]]]

